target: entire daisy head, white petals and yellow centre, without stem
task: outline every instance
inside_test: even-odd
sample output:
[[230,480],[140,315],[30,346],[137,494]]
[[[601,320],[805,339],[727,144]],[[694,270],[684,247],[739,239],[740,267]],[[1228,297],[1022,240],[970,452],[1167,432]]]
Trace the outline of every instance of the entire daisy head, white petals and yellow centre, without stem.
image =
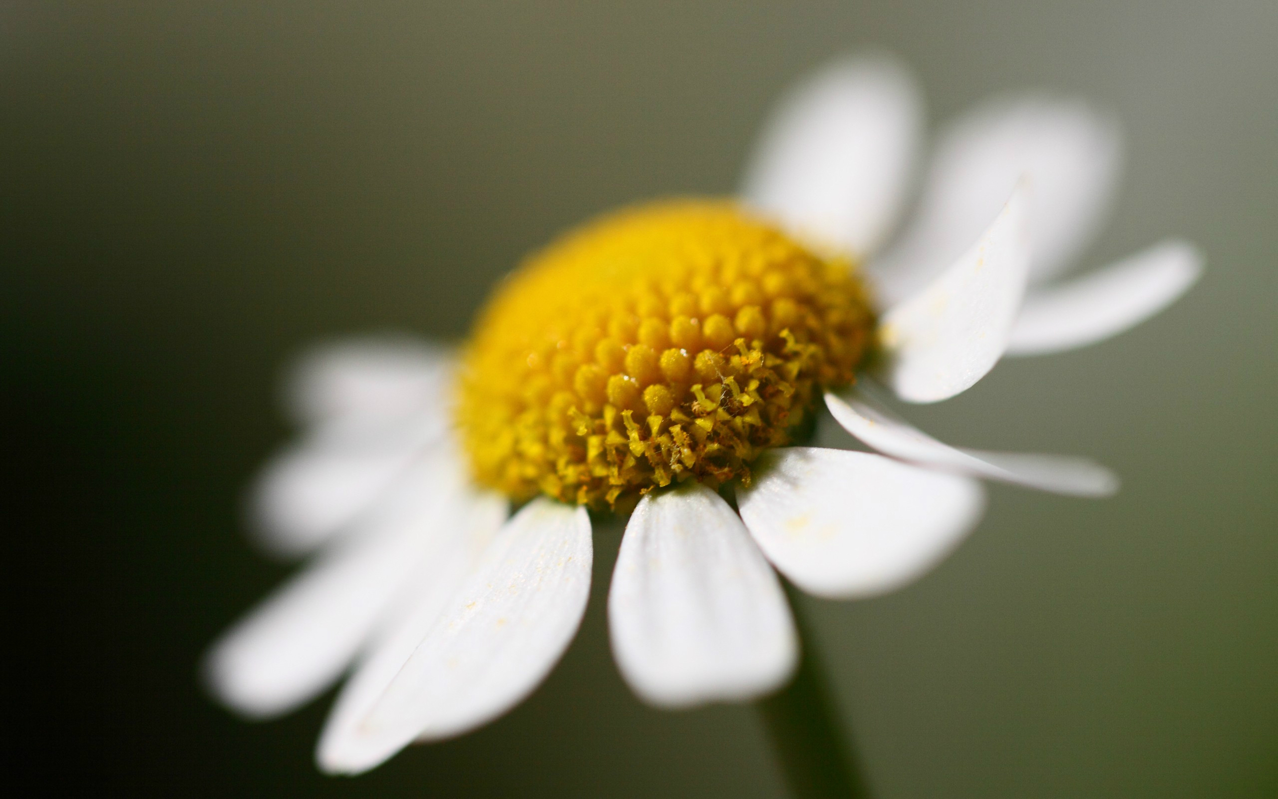
[[[1005,354],[1091,344],[1166,307],[1196,251],[1168,240],[1065,277],[1105,216],[1120,136],[1048,96],[923,138],[886,56],[783,100],[739,199],[603,216],[529,257],[454,350],[322,346],[289,381],[302,438],[256,487],[256,528],[303,570],[212,649],[216,694],[268,717],[341,689],[320,740],[355,773],[527,697],[589,593],[587,509],[629,514],[608,594],[644,701],[748,701],[799,635],[780,571],[851,598],[916,579],[971,531],[979,478],[1116,490],[1077,458],[953,447],[878,399],[933,403]],[[874,386],[878,386],[875,389]],[[819,404],[878,454],[799,446]]]

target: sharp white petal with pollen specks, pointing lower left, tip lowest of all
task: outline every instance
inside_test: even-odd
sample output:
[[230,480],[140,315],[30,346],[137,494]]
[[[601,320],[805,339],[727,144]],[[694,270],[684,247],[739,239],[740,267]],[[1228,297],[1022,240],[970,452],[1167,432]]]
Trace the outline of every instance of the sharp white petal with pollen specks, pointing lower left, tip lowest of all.
[[567,648],[590,592],[590,519],[537,499],[497,533],[408,662],[326,750],[330,771],[367,771],[414,739],[438,740],[518,704]]

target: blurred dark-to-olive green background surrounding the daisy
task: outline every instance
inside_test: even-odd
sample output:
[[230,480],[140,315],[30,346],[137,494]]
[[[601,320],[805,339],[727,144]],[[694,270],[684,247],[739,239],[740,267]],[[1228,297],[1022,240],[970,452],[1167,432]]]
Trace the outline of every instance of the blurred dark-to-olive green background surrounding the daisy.
[[[994,487],[916,586],[808,602],[893,796],[1278,794],[1278,5],[360,3],[0,6],[0,353],[10,761],[24,795],[777,796],[749,707],[621,684],[598,534],[583,634],[525,704],[357,780],[330,701],[245,724],[203,647],[288,573],[240,500],[317,339],[456,337],[525,251],[611,206],[727,193],[769,102],[874,43],[933,120],[1049,87],[1117,111],[1089,265],[1208,253],[1169,312],[911,410],[989,449],[1088,454],[1089,502]],[[10,777],[10,784],[18,777]]]

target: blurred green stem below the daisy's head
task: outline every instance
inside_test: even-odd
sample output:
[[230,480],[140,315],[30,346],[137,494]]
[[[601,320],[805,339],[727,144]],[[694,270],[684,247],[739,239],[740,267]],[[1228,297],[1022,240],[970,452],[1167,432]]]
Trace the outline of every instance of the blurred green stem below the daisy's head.
[[789,685],[757,703],[786,784],[796,799],[869,799],[869,787],[838,722],[799,592],[782,579],[799,632],[800,660]]

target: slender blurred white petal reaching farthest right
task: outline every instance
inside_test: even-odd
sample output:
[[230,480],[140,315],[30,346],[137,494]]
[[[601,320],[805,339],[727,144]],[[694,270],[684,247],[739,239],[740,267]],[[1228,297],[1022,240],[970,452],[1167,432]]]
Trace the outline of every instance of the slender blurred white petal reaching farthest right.
[[1190,243],[1155,244],[1065,284],[1034,289],[1007,345],[1010,355],[1042,355],[1103,341],[1176,302],[1203,271]]

